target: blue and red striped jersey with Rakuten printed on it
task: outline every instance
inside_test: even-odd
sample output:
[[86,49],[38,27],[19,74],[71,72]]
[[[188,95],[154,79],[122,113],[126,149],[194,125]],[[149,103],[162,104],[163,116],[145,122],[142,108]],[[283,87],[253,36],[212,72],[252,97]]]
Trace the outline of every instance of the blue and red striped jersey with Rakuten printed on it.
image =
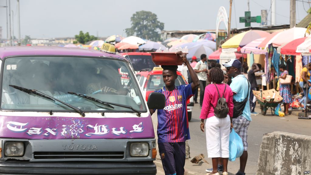
[[191,84],[177,86],[173,91],[163,87],[156,92],[166,99],[165,108],[158,109],[158,143],[189,140],[187,100],[193,96]]

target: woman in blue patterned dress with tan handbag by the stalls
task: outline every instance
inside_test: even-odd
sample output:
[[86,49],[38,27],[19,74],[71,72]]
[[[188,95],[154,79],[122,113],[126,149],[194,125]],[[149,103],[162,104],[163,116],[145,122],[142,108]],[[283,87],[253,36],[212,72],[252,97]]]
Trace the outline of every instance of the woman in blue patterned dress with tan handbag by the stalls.
[[[280,64],[279,65],[281,75],[279,78],[286,78],[286,75],[288,75],[288,71],[286,70],[285,64]],[[280,95],[283,97],[283,102],[284,102],[284,113],[288,114],[288,106],[290,103],[293,102],[291,98],[291,92],[290,92],[290,85],[289,84],[281,84],[280,83]]]

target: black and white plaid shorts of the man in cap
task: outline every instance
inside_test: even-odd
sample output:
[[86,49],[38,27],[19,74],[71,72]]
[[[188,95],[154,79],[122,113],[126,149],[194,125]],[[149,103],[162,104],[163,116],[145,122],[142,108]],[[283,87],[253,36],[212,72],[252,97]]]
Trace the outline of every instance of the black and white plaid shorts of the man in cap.
[[247,129],[250,124],[243,116],[238,116],[237,118],[232,119],[233,128],[236,133],[241,137],[243,141],[244,151],[247,151],[248,143],[247,143]]

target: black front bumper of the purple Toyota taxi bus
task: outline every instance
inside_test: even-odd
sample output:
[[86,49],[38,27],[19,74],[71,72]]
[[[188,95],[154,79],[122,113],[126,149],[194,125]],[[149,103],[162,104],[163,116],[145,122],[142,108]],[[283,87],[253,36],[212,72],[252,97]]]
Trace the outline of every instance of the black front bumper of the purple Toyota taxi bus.
[[21,162],[0,161],[0,175],[146,174],[155,175],[153,162]]

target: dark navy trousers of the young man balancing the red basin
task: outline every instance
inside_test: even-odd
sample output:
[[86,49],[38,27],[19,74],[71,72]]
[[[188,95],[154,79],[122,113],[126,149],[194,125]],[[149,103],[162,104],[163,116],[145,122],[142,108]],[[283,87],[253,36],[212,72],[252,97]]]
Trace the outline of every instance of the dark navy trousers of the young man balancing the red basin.
[[185,142],[158,143],[165,175],[183,175],[185,170]]

